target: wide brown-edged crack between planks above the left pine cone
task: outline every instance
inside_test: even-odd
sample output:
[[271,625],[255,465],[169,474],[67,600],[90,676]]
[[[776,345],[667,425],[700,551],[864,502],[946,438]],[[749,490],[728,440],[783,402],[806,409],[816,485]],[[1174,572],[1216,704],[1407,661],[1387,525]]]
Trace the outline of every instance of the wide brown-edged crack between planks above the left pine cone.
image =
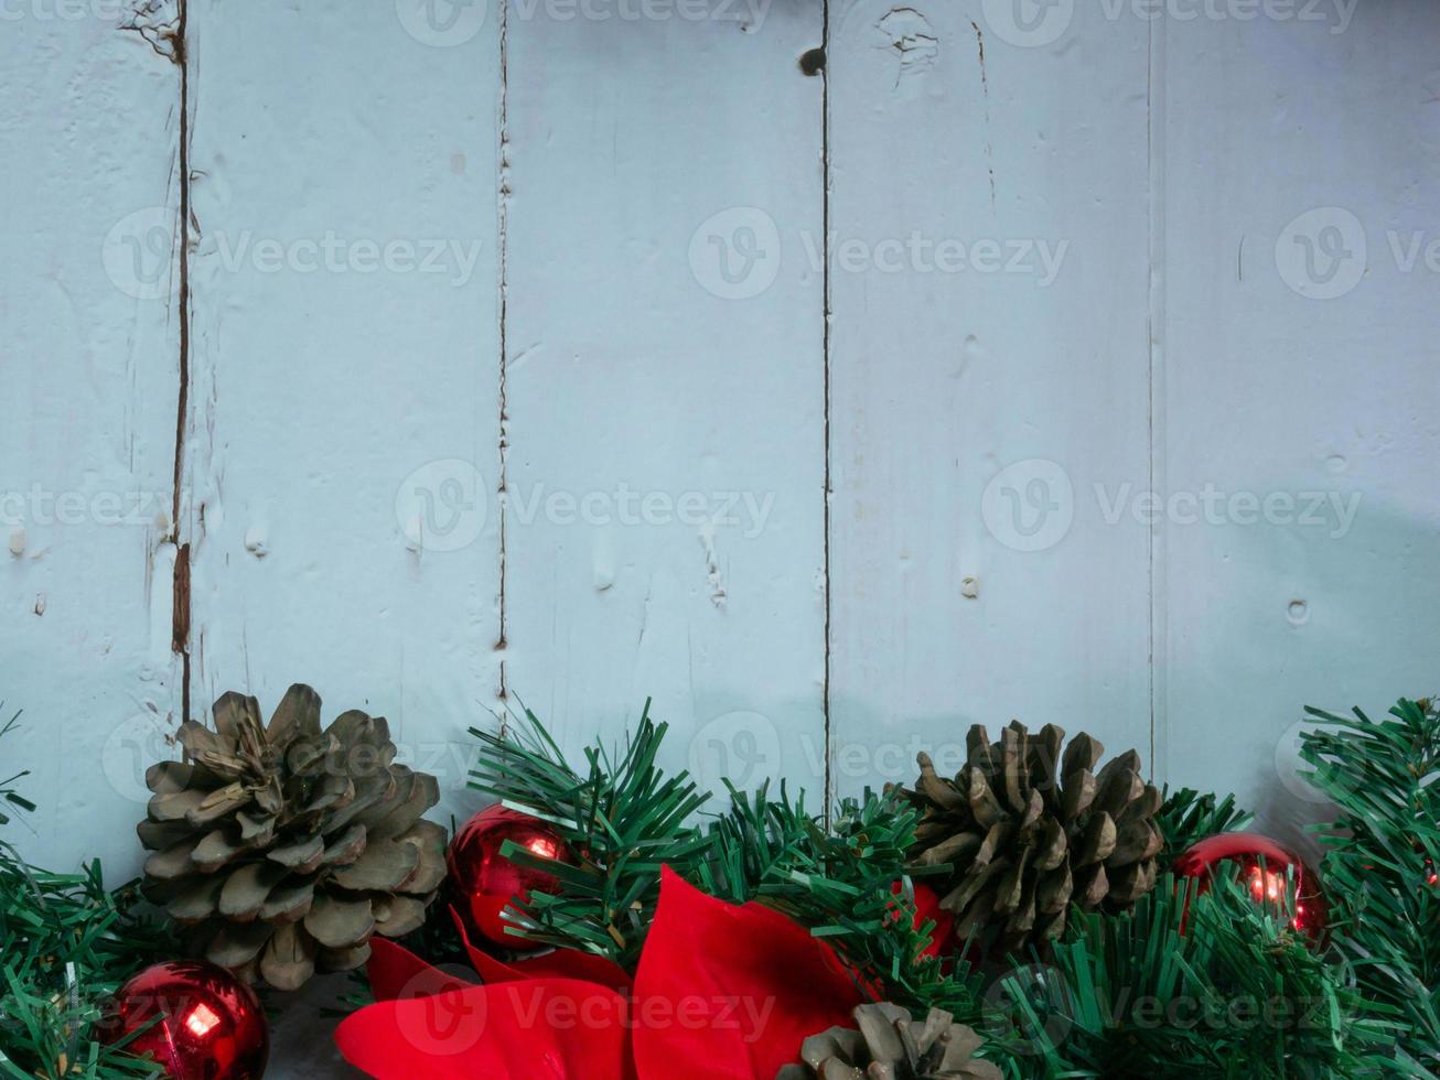
[[176,549],[170,649],[180,657],[180,719],[190,719],[190,543],[181,543],[181,513],[184,511],[186,425],[190,412],[190,49],[189,0],[177,0],[176,29],[171,39],[173,58],[180,69],[180,225],[179,266],[180,288],[177,308],[180,318],[180,380],[176,393],[176,459],[171,477],[170,540]]

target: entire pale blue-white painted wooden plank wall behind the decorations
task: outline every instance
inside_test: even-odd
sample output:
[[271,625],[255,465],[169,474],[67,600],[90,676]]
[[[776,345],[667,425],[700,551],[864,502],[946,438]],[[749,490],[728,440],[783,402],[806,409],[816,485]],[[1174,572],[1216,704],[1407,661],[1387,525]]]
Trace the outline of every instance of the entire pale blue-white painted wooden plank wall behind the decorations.
[[469,723],[654,696],[710,783],[1018,716],[1295,840],[1300,706],[1436,688],[1437,46],[1398,0],[0,0],[23,847],[135,870],[163,733],[292,680],[455,814]]

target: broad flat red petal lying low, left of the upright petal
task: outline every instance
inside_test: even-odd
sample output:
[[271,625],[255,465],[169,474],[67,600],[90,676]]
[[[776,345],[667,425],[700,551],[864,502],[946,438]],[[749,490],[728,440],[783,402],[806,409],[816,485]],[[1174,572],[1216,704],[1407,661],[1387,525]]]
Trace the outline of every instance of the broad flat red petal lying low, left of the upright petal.
[[603,986],[530,979],[369,1005],[336,1045],[377,1080],[632,1080],[628,1015]]

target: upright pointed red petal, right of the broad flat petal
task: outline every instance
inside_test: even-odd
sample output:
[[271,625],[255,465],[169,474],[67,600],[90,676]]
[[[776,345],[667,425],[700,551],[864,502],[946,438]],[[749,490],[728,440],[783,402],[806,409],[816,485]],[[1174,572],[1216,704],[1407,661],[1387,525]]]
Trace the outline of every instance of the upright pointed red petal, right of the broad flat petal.
[[773,1080],[806,1037],[850,1022],[861,1001],[834,952],[802,926],[706,896],[668,867],[635,998],[642,1080]]

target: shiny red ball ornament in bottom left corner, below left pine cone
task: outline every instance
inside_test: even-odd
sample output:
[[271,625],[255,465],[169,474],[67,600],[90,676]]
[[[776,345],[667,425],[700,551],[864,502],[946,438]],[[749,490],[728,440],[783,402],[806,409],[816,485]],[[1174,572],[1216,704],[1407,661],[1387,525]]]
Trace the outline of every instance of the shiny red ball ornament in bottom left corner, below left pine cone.
[[259,1080],[265,1074],[269,1028],[261,1002],[213,963],[157,963],[121,986],[114,1009],[101,1021],[99,1040],[114,1045],[141,1028],[125,1053],[150,1054],[173,1080]]

